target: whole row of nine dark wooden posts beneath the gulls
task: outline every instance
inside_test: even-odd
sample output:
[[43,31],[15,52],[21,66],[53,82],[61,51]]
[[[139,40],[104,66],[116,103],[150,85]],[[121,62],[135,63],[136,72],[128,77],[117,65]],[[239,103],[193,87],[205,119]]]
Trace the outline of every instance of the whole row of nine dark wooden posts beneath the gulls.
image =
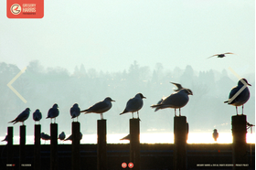
[[[246,164],[246,115],[232,116],[232,134],[233,164]],[[97,122],[97,169],[107,169],[107,150],[106,150],[106,120]],[[35,149],[34,149],[34,168],[40,169],[40,133],[41,125],[35,124]],[[187,169],[187,133],[188,123],[186,116],[174,118],[174,169]],[[50,124],[50,169],[58,169],[58,124]],[[72,170],[80,169],[80,122],[72,122]],[[139,170],[140,167],[140,121],[130,119],[130,162],[133,163],[133,170]],[[202,136],[203,137],[203,136]],[[26,126],[20,126],[20,144],[19,144],[19,165],[24,163],[26,153]],[[13,163],[13,127],[8,127],[7,143],[7,164]],[[170,160],[171,161],[171,160]],[[242,167],[234,167],[239,169]]]

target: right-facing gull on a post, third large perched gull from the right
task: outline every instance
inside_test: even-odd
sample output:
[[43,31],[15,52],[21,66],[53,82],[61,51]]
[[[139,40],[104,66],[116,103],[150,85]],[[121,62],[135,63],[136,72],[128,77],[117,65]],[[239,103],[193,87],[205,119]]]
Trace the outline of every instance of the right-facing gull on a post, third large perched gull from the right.
[[[132,99],[127,101],[126,107],[123,110],[123,112],[120,113],[120,115],[126,113],[126,112],[137,112],[138,119],[139,118],[139,110],[142,109],[144,105],[143,99],[146,99],[142,93],[137,93]],[[134,118],[134,117],[133,117]]]

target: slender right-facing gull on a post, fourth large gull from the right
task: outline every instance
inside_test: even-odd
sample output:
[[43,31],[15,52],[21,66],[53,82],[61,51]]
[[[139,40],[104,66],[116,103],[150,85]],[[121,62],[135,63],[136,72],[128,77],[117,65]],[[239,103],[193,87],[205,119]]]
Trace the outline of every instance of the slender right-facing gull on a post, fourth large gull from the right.
[[86,113],[100,113],[101,114],[101,120],[103,119],[103,112],[107,112],[112,108],[112,98],[107,97],[104,99],[104,101],[97,102],[96,104],[92,105],[90,108],[81,111]]

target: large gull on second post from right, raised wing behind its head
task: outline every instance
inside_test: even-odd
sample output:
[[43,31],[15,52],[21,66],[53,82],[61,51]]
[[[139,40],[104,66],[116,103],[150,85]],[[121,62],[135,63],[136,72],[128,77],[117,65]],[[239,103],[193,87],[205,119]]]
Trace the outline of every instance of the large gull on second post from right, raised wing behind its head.
[[160,104],[155,104],[151,107],[156,108],[155,112],[159,109],[174,108],[175,116],[176,109],[179,109],[179,116],[181,116],[180,108],[186,106],[187,102],[189,101],[188,95],[193,95],[192,90],[182,89],[166,97]]

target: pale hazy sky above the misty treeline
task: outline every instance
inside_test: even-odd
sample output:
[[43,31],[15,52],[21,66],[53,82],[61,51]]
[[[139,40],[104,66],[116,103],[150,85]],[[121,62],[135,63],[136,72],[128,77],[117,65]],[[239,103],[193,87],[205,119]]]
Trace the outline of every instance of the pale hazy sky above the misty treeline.
[[[251,0],[45,1],[42,19],[9,19],[0,2],[0,62],[25,68],[38,59],[45,67],[72,72],[165,69],[255,68],[255,2]],[[227,58],[208,58],[233,52]]]

